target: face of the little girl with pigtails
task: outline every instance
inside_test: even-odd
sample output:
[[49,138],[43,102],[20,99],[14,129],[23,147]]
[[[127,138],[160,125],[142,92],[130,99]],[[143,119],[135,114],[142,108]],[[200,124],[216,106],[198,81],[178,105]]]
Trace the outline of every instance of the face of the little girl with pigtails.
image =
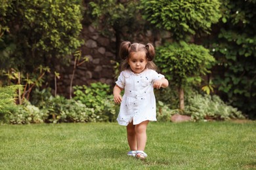
[[133,73],[139,74],[144,71],[146,68],[146,64],[148,63],[148,59],[146,59],[145,52],[133,52],[131,53],[131,57],[128,59],[128,64],[131,67]]

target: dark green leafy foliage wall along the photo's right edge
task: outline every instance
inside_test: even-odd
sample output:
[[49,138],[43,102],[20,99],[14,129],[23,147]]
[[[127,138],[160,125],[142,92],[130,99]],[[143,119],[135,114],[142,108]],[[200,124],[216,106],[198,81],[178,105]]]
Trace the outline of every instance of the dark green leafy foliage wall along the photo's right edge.
[[234,107],[256,118],[256,36],[255,0],[222,0],[221,29],[217,36],[205,42],[217,59],[213,83],[222,97]]

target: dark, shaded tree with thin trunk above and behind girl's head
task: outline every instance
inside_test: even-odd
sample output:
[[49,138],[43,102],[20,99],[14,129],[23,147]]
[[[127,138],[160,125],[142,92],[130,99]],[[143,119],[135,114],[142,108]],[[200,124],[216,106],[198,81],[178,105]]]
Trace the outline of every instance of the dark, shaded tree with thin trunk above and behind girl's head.
[[143,31],[144,21],[138,5],[137,0],[89,0],[85,3],[87,23],[95,25],[102,35],[116,39],[116,59],[121,39],[131,41],[135,33]]

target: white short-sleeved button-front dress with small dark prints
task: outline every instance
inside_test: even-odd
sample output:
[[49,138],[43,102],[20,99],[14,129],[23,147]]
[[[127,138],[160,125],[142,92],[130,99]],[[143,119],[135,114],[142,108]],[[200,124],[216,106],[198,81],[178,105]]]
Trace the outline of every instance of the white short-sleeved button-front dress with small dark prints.
[[164,78],[152,69],[145,69],[140,74],[131,70],[122,71],[116,81],[117,86],[124,88],[117,122],[127,126],[129,122],[140,124],[145,120],[156,121],[156,98],[153,84]]

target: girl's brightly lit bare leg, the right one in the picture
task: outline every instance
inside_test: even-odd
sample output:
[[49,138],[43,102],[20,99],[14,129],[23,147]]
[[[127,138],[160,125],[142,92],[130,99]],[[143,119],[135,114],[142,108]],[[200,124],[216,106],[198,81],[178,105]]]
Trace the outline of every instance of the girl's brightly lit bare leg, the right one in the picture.
[[135,126],[135,132],[137,137],[137,150],[144,150],[146,146],[146,126],[148,126],[148,120],[141,122]]

